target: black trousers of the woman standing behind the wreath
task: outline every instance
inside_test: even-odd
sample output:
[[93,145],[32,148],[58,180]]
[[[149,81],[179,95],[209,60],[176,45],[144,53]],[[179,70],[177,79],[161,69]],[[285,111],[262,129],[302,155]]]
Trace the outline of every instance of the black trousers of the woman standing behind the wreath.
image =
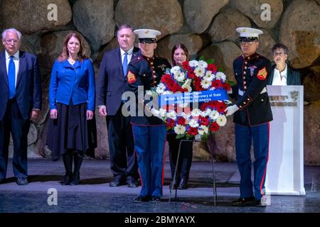
[[[174,171],[176,170],[176,160],[178,157],[179,144],[181,139],[176,139],[176,134],[166,135],[166,140],[169,143],[169,158],[170,158],[170,168],[171,168],[171,178],[174,179]],[[177,181],[180,179],[189,178],[189,172],[192,162],[192,142],[183,141],[181,143],[180,157],[178,161],[178,170],[177,170]]]

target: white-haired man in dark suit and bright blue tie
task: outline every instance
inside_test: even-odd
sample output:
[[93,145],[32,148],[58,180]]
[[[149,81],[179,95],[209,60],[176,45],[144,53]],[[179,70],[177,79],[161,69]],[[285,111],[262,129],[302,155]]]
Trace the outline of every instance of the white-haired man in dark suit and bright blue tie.
[[28,184],[27,147],[30,121],[41,109],[41,79],[35,55],[19,50],[21,33],[14,28],[2,33],[0,54],[0,182],[6,179],[10,133],[14,140],[14,176]]

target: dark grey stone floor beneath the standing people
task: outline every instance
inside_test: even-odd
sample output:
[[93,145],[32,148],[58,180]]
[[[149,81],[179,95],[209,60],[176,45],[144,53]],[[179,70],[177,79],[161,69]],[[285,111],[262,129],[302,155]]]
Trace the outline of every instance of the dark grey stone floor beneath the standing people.
[[[110,162],[85,160],[80,172],[81,184],[62,186],[64,174],[62,160],[46,159],[28,161],[29,184],[18,186],[12,177],[9,160],[7,179],[0,184],[0,213],[318,213],[320,212],[320,167],[304,168],[306,196],[270,196],[270,205],[259,207],[234,207],[230,202],[239,196],[239,174],[235,163],[215,162],[218,198],[214,206],[212,164],[193,162],[189,188],[174,191],[169,202],[169,163],[165,166],[163,201],[159,204],[132,203],[140,187],[109,187],[112,180]],[[50,190],[58,193],[57,205],[50,206]],[[48,192],[49,190],[49,192]],[[51,196],[51,197],[50,197]]]

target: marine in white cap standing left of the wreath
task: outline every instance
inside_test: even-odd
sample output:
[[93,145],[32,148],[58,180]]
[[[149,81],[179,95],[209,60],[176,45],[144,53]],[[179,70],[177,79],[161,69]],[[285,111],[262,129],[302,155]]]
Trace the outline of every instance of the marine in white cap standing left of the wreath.
[[129,63],[127,72],[127,90],[134,92],[137,101],[131,123],[142,181],[141,192],[134,198],[134,202],[159,202],[164,182],[166,126],[159,118],[147,116],[151,113],[147,115],[139,113],[139,106],[144,110],[149,101],[144,101],[144,97],[138,96],[138,87],[143,86],[144,91],[156,87],[161,76],[166,73],[167,68],[171,68],[171,65],[168,60],[154,56],[156,35],[161,34],[159,31],[139,29],[134,33],[139,35],[139,48],[142,51],[141,56]]

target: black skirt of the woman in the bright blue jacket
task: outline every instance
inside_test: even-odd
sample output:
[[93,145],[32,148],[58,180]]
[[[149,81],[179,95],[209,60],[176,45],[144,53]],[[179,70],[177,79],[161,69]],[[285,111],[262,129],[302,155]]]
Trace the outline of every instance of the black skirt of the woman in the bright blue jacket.
[[87,121],[87,104],[57,103],[58,118],[49,121],[47,145],[53,160],[58,160],[67,150],[94,157],[97,148],[95,117]]

